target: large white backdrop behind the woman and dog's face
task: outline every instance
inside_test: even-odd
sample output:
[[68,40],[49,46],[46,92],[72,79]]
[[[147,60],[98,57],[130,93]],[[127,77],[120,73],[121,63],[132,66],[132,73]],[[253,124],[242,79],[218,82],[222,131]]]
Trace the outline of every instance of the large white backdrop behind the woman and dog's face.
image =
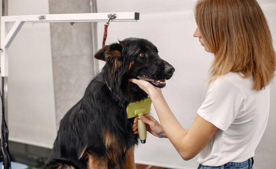
[[[197,109],[207,92],[208,70],[213,56],[204,51],[198,38],[192,36],[196,23],[193,8],[196,0],[98,0],[98,12],[140,12],[138,22],[111,22],[107,42],[112,43],[128,37],[145,38],[154,43],[162,59],[175,68],[175,74],[167,81],[162,92],[171,110],[184,128],[190,128]],[[276,1],[259,0],[276,39]],[[97,24],[98,46],[101,47],[103,24]],[[275,44],[275,43],[274,43]],[[99,62],[102,68],[103,61]],[[257,149],[254,168],[273,168],[275,160],[275,110],[276,84],[271,88],[271,115],[266,133]],[[154,107],[152,114],[157,118]],[[148,134],[147,143],[135,150],[135,161],[168,168],[196,168],[197,157],[184,161],[168,139],[159,139]]]

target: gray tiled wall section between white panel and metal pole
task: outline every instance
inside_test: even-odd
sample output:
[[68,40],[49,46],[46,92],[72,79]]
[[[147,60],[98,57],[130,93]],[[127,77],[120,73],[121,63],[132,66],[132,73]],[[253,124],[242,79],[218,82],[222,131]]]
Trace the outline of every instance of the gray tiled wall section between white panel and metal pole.
[[[49,0],[50,14],[90,13],[90,0]],[[51,23],[56,125],[79,101],[93,77],[90,22]]]

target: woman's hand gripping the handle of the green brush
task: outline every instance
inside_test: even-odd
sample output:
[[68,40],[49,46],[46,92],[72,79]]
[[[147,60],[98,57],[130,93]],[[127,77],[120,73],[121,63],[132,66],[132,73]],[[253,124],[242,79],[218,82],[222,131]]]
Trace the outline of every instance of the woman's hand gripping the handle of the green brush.
[[[142,122],[146,124],[146,129],[148,132],[152,133],[152,135],[159,137],[159,138],[167,138],[162,126],[158,123],[158,121],[153,118],[150,115],[143,115],[140,116]],[[138,125],[138,117],[135,117],[132,128],[133,128],[133,133],[138,134],[137,130],[137,125]],[[137,131],[136,131],[137,130]]]

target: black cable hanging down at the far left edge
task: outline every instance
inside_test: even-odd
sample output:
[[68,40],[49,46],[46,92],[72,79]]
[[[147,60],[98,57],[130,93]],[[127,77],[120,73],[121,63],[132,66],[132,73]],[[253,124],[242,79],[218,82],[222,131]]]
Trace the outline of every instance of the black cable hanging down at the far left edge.
[[[2,92],[4,94],[4,77],[2,77]],[[7,127],[7,123],[5,120],[5,103],[4,103],[5,96],[1,94],[1,91],[0,91],[0,96],[2,101],[1,152],[2,152],[4,169],[10,169],[11,160],[10,160],[9,143],[8,143],[9,129]]]

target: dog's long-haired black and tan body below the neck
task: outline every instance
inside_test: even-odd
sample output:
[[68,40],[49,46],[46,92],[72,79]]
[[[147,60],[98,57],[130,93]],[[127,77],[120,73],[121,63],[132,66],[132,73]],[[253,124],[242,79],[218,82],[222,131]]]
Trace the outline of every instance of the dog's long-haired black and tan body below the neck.
[[86,168],[92,159],[107,168],[118,168],[128,149],[138,143],[132,124],[126,104],[114,99],[99,74],[61,120],[51,158],[70,159],[77,168]]

